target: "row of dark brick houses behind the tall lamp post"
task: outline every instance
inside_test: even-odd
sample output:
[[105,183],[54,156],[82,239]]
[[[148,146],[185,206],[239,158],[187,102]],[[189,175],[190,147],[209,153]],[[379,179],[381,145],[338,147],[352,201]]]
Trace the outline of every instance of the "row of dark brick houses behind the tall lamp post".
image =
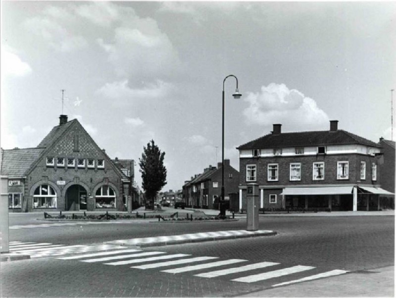
[[[186,205],[196,208],[218,209],[221,197],[222,163],[217,168],[209,165],[203,173],[195,175],[183,186],[183,197]],[[228,201],[230,194],[238,194],[239,172],[224,159],[224,199]]]

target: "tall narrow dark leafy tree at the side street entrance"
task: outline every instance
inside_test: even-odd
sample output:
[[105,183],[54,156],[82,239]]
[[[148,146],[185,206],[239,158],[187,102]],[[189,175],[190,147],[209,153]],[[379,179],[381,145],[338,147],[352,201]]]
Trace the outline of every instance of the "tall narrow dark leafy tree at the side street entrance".
[[143,147],[142,158],[139,158],[140,172],[142,173],[142,188],[146,199],[153,206],[154,198],[166,184],[166,168],[164,166],[165,152],[151,140],[147,147]]

